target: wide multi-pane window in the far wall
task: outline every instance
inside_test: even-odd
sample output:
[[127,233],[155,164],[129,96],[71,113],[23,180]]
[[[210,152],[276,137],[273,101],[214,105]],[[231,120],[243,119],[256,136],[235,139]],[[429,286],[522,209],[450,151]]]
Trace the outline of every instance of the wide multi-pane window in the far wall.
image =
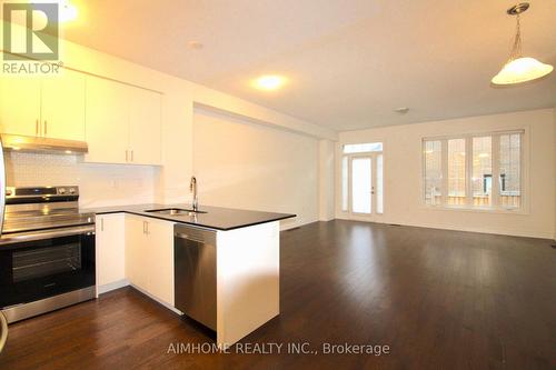
[[427,206],[520,209],[523,131],[424,139]]

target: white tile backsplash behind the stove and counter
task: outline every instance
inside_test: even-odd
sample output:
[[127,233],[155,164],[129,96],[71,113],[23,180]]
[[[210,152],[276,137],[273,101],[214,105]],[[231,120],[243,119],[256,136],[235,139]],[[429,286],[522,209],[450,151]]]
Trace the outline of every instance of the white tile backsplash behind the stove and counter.
[[77,184],[81,207],[103,207],[153,202],[159,169],[83,163],[81,156],[8,151],[6,176],[9,187]]

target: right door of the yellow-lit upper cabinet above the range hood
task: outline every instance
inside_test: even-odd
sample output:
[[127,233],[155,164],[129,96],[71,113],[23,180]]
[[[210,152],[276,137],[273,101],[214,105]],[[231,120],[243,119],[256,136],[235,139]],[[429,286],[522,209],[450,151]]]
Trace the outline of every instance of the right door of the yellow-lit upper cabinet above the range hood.
[[86,76],[63,69],[42,79],[42,136],[85,141]]

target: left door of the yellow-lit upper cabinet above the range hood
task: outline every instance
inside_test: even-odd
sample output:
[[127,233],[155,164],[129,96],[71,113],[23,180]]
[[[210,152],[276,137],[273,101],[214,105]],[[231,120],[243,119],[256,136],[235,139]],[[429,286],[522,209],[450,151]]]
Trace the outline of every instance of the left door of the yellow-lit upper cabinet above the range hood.
[[38,136],[40,79],[0,77],[0,133]]

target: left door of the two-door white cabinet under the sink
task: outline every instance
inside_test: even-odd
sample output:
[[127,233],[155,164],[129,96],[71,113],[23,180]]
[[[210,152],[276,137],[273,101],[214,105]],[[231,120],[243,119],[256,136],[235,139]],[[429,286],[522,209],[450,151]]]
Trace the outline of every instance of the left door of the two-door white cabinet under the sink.
[[126,276],[129,282],[148,291],[151,268],[145,220],[126,216]]

